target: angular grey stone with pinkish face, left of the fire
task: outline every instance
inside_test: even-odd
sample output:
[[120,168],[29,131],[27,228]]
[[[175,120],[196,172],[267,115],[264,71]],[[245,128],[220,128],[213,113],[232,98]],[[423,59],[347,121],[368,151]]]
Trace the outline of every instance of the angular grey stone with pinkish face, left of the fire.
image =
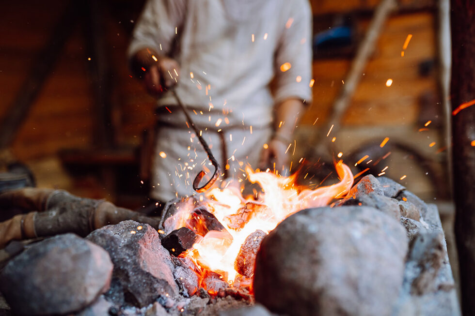
[[87,239],[103,247],[114,264],[108,299],[144,307],[178,294],[172,258],[152,226],[129,220],[97,229]]

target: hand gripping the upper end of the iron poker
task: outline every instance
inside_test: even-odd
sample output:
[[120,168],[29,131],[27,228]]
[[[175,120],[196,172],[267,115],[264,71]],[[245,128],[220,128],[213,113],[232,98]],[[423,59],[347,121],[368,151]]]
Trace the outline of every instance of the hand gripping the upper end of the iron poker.
[[157,62],[149,65],[143,77],[143,82],[148,93],[159,96],[177,83],[179,74],[180,67],[176,60],[161,57]]

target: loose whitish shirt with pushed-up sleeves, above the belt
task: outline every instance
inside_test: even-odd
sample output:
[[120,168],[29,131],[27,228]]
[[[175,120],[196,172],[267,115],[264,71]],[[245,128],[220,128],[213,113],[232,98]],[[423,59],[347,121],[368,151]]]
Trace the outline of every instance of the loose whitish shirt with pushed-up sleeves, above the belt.
[[[152,48],[177,60],[176,91],[200,127],[224,117],[266,126],[274,104],[311,101],[310,36],[308,0],[148,0],[128,54]],[[174,104],[168,93],[158,100]]]

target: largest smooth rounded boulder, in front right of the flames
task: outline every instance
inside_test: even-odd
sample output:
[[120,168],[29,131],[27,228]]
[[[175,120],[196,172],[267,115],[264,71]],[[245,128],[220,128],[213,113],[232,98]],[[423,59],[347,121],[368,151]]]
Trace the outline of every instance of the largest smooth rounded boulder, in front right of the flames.
[[255,299],[288,315],[390,315],[407,248],[405,229],[374,208],[300,211],[262,241]]

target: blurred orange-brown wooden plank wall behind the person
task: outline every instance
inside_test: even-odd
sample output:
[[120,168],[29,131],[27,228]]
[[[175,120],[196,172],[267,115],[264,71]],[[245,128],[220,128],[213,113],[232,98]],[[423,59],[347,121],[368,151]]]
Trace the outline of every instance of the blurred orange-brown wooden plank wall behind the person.
[[[379,0],[311,0],[315,19],[332,15],[348,15],[360,36],[364,35]],[[50,33],[59,20],[67,1],[13,1],[0,11],[0,118],[13,103],[22,82],[37,60]],[[153,125],[154,100],[140,83],[130,77],[125,51],[129,32],[143,1],[103,1],[108,8],[102,18],[106,26],[105,47],[111,73],[111,127],[119,145],[137,146],[143,130]],[[391,15],[381,31],[377,47],[369,60],[356,93],[343,118],[344,127],[335,144],[344,153],[356,150],[364,141],[390,136],[406,139],[421,147],[423,152],[443,161],[441,111],[437,68],[421,75],[423,63],[437,64],[436,6],[434,1],[401,0],[400,10]],[[318,23],[316,23],[317,25]],[[318,30],[316,30],[318,31]],[[404,57],[401,50],[408,34],[412,39]],[[34,165],[36,161],[55,159],[53,164],[40,164],[36,170],[45,175],[45,168],[60,168],[59,150],[90,149],[94,144],[95,102],[88,71],[88,58],[83,30],[78,25],[61,52],[61,57],[49,75],[37,100],[25,113],[12,145],[14,155]],[[329,115],[335,96],[344,84],[351,58],[317,59],[313,64],[315,84],[314,103],[305,114],[298,137],[305,142],[319,131]],[[393,79],[386,87],[387,79]],[[429,110],[428,110],[429,109]],[[316,119],[317,123],[314,125]],[[432,120],[423,132],[421,124]],[[429,147],[436,141],[437,146]],[[314,144],[308,144],[313,146]],[[301,149],[303,154],[303,150]],[[300,157],[294,157],[298,160]],[[439,155],[439,156],[437,156]],[[396,156],[396,155],[395,155]],[[410,163],[402,157],[394,159],[395,168]],[[348,162],[352,163],[352,162]],[[47,167],[45,167],[47,166]],[[412,168],[412,167],[411,167]],[[413,168],[416,185],[430,186]],[[399,172],[400,171],[400,172]],[[394,177],[410,171],[398,170]],[[51,173],[51,172],[50,172]],[[53,173],[59,177],[59,173]],[[64,173],[61,173],[64,175]],[[62,186],[65,182],[50,179],[46,185]],[[408,178],[411,178],[408,175]],[[56,182],[55,182],[56,181]],[[56,184],[55,184],[56,183]],[[58,184],[60,183],[60,184]],[[97,183],[96,183],[97,184]],[[100,186],[100,185],[99,185]],[[73,187],[71,189],[74,191]],[[416,190],[417,191],[417,190]],[[430,191],[427,188],[426,191]],[[83,195],[87,192],[78,191]],[[107,190],[101,194],[107,194]]]

